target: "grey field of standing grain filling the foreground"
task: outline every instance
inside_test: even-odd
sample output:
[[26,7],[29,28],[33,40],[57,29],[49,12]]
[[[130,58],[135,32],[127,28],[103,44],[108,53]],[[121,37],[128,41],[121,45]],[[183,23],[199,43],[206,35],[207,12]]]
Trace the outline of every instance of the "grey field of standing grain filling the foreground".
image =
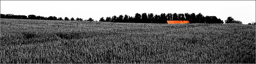
[[0,63],[255,63],[255,25],[0,20]]

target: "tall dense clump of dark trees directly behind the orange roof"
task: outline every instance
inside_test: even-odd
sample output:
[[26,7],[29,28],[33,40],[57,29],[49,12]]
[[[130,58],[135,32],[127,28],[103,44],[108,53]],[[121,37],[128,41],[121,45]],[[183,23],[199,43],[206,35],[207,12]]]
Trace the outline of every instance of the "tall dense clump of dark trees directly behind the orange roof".
[[112,17],[101,17],[99,21],[103,22],[120,22],[120,23],[167,23],[167,20],[186,20],[190,23],[224,23],[223,20],[217,18],[216,16],[203,16],[201,13],[199,14],[172,14],[172,13],[162,13],[160,15],[154,15],[152,13],[146,14],[138,14],[135,16],[128,15],[120,15],[120,16],[112,16]]

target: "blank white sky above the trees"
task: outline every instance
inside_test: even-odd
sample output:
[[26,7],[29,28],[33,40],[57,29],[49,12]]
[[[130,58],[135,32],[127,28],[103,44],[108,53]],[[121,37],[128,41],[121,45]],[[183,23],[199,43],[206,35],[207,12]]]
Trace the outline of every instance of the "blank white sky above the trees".
[[0,1],[1,14],[56,17],[77,17],[99,21],[101,17],[112,17],[119,15],[135,16],[136,13],[160,15],[161,13],[201,13],[203,16],[216,16],[225,21],[229,16],[243,24],[255,22],[256,4],[255,0],[34,0],[34,1]]

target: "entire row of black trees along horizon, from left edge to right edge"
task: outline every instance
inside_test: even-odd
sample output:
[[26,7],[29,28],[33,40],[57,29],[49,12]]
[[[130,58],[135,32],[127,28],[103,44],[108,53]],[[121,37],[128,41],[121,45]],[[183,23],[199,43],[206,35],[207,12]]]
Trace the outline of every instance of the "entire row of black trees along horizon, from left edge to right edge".
[[[8,18],[8,19],[41,19],[41,20],[66,20],[66,21],[94,21],[91,17],[89,19],[83,20],[82,18],[68,18],[64,17],[55,17],[55,16],[36,16],[36,15],[14,15],[14,14],[1,14],[1,18]],[[183,20],[183,21],[189,21],[190,23],[224,23],[223,20],[220,18],[217,18],[216,16],[203,16],[201,13],[199,14],[172,14],[172,13],[162,13],[160,15],[154,15],[152,13],[146,14],[138,14],[136,13],[135,16],[128,16],[128,15],[120,15],[120,16],[112,16],[112,17],[101,17],[99,21],[102,22],[118,22],[118,23],[167,23],[167,20]],[[97,20],[96,20],[97,21]],[[239,20],[234,20],[232,17],[228,17],[227,20],[225,20],[225,23],[242,23]],[[248,23],[248,24],[254,24],[255,23]]]

